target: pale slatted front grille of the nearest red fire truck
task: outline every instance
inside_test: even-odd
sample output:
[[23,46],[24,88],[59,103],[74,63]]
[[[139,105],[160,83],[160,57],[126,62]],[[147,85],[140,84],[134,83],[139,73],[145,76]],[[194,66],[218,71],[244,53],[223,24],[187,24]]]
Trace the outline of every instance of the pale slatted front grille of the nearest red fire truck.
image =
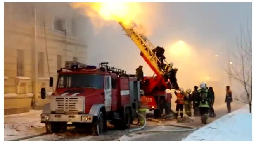
[[54,112],[75,112],[84,113],[85,111],[85,98],[82,96],[52,96],[51,111]]

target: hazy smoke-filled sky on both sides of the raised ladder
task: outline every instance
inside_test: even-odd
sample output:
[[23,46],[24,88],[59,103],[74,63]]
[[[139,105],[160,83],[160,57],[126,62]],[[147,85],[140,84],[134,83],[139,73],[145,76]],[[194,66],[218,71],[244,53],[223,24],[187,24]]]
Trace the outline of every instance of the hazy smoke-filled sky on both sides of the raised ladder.
[[[193,88],[204,81],[221,83],[225,90],[228,81],[224,69],[229,61],[235,63],[231,52],[237,52],[236,38],[241,27],[246,30],[247,19],[252,33],[252,3],[142,3],[140,6],[143,14],[139,20],[143,19],[140,22],[149,31],[148,39],[155,46],[164,47],[166,61],[178,68],[177,79],[182,87]],[[88,19],[86,24],[90,31],[86,38],[87,64],[109,62],[129,74],[135,74],[135,69],[142,65],[144,74],[153,75],[139,49],[123,35],[117,22],[106,22],[99,27],[92,21]]]

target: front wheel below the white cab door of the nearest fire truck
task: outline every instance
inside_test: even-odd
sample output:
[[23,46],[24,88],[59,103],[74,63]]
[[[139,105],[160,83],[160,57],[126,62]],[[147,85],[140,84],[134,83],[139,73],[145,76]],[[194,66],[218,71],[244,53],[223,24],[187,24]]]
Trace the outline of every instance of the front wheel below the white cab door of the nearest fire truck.
[[104,114],[100,111],[97,121],[92,126],[92,135],[98,136],[103,133],[104,130]]

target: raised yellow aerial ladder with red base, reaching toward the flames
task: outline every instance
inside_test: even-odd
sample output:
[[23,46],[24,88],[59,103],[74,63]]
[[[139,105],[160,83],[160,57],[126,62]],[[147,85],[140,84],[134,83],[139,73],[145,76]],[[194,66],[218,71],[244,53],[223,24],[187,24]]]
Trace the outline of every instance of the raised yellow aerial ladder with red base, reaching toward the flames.
[[140,49],[141,56],[157,76],[156,81],[149,84],[149,92],[151,92],[154,87],[159,84],[159,82],[162,82],[163,85],[167,88],[166,81],[163,78],[164,74],[166,74],[166,70],[159,68],[157,63],[160,63],[160,60],[157,58],[156,54],[152,52],[152,49],[154,49],[155,46],[150,42],[149,39],[135,32],[135,30],[133,29],[134,27],[126,28],[121,22],[119,22],[119,24],[121,25],[121,27],[123,27],[123,31],[126,32],[126,35],[130,37],[131,40],[133,40],[133,42]]

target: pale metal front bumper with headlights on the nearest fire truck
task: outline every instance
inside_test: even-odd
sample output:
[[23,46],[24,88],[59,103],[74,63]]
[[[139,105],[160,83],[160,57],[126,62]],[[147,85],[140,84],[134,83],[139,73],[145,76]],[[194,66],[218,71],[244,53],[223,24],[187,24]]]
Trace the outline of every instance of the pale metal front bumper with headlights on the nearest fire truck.
[[92,123],[93,115],[91,114],[41,114],[41,123],[48,122],[72,122],[72,123]]

